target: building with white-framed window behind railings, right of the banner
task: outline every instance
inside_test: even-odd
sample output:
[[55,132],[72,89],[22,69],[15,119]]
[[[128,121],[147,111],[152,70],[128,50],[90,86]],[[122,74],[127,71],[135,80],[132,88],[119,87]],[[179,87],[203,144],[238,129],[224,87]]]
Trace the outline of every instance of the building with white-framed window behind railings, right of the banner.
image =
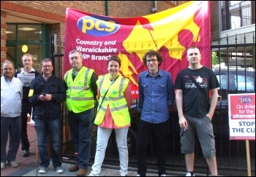
[[223,66],[255,68],[255,1],[211,1],[210,10],[211,51]]

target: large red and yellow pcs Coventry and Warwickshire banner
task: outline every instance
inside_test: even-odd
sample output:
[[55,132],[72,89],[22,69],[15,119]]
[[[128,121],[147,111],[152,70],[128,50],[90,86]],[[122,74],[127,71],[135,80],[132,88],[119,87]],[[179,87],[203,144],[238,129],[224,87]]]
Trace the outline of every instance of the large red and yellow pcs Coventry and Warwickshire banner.
[[188,66],[187,48],[200,49],[201,63],[211,68],[211,34],[208,1],[189,1],[152,15],[117,18],[67,8],[64,44],[64,73],[71,66],[68,54],[79,50],[83,65],[96,74],[108,73],[108,58],[121,58],[120,74],[132,83],[132,98],[138,98],[138,74],[146,71],[142,57],[157,50],[163,57],[161,69],[175,81],[178,71]]

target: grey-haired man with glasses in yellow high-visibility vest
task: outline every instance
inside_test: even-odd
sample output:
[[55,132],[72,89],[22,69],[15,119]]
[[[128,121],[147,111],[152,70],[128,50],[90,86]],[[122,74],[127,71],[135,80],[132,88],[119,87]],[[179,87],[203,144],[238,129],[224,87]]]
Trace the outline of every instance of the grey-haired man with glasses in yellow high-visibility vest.
[[69,171],[78,171],[77,176],[85,176],[91,156],[92,119],[94,118],[94,101],[97,95],[97,74],[91,68],[83,66],[81,52],[69,52],[72,69],[64,74],[67,87],[67,110],[70,135],[77,163]]

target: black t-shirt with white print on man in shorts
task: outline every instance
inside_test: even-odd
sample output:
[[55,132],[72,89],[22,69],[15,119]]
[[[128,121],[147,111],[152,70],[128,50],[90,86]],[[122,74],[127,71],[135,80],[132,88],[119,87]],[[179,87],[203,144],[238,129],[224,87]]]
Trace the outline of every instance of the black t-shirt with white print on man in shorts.
[[[189,75],[195,78],[208,98],[203,97]],[[203,66],[197,70],[189,68],[181,70],[176,77],[175,88],[183,90],[183,113],[195,117],[205,116],[209,111],[208,103],[206,103],[209,101],[209,90],[217,87],[219,87],[217,76],[210,68]]]

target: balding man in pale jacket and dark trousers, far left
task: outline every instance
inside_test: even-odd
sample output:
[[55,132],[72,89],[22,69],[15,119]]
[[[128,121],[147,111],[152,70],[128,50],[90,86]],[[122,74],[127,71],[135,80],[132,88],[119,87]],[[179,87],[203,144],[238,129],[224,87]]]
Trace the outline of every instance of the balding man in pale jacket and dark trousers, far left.
[[[20,79],[13,76],[14,71],[13,63],[5,60],[2,64],[3,76],[1,76],[1,169],[5,168],[7,161],[11,167],[18,167],[15,159],[20,146],[23,87]],[[6,152],[8,135],[10,141]]]

